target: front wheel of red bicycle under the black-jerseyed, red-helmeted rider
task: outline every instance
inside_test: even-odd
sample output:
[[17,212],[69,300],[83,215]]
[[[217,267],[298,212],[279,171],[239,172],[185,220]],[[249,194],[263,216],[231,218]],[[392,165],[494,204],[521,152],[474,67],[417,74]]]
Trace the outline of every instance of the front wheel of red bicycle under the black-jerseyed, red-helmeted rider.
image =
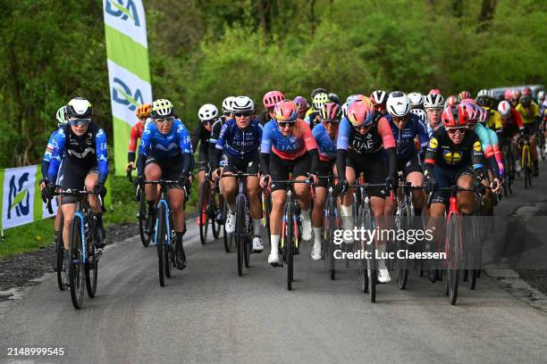
[[450,304],[456,304],[459,285],[459,261],[461,257],[461,226],[459,216],[452,214],[446,227],[445,252],[447,253],[447,292]]

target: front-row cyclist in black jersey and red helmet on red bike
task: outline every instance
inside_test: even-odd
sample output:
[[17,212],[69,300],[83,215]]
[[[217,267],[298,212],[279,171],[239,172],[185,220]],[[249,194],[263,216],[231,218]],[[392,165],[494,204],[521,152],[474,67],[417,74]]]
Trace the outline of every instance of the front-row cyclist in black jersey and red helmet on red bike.
[[[429,209],[431,219],[428,227],[435,230],[435,241],[440,242],[438,223],[444,217],[446,205],[449,202],[448,191],[438,190],[438,187],[458,185],[462,188],[475,189],[484,192],[484,153],[481,142],[475,133],[467,128],[467,113],[461,108],[446,108],[442,112],[444,128],[435,130],[425,151],[425,192],[433,193]],[[464,215],[474,211],[475,196],[471,192],[458,194],[459,209]],[[438,271],[431,270],[429,279],[438,280]]]

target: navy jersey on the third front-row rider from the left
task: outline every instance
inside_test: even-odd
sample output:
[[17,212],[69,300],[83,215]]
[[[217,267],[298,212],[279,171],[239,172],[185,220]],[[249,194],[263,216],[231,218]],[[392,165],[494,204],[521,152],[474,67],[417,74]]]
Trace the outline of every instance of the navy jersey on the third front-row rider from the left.
[[262,126],[257,119],[251,120],[245,129],[231,119],[221,128],[215,147],[234,158],[246,159],[258,155],[261,140]]

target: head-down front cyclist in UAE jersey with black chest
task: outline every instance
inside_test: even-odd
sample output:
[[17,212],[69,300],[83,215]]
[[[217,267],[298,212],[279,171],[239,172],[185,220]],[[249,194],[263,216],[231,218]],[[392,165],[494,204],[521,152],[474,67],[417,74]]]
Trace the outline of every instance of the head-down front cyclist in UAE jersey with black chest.
[[[397,153],[395,139],[391,133],[390,122],[380,112],[373,109],[369,98],[353,101],[348,108],[348,116],[341,120],[336,141],[336,170],[338,171],[339,188],[347,191],[355,183],[361,172],[367,183],[385,183],[393,188],[397,183]],[[388,157],[386,172],[382,148]],[[386,187],[368,189],[371,196],[371,207],[376,226],[385,227],[384,209]],[[353,230],[353,194],[344,194],[341,205],[342,226],[344,230]],[[352,240],[345,240],[352,244]],[[385,249],[379,244],[378,250]],[[378,261],[378,281],[387,283],[391,280],[383,260]]]

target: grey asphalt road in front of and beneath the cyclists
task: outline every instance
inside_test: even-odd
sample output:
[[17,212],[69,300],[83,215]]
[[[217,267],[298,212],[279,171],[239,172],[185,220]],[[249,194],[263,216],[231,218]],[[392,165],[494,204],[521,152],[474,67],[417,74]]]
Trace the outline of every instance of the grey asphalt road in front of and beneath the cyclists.
[[[501,214],[547,200],[547,170],[534,188],[518,188]],[[518,185],[524,182],[519,180]],[[296,282],[251,256],[237,276],[222,240],[199,243],[189,224],[189,266],[160,287],[154,247],[138,237],[117,242],[100,261],[97,297],[74,310],[53,274],[19,300],[0,302],[0,362],[313,362],[544,363],[547,314],[520,302],[490,277],[460,288],[450,306],[444,285],[411,273],[408,289],[379,285],[377,302],[358,290],[356,270],[335,281],[296,257]],[[8,356],[9,348],[63,347],[63,356]]]

